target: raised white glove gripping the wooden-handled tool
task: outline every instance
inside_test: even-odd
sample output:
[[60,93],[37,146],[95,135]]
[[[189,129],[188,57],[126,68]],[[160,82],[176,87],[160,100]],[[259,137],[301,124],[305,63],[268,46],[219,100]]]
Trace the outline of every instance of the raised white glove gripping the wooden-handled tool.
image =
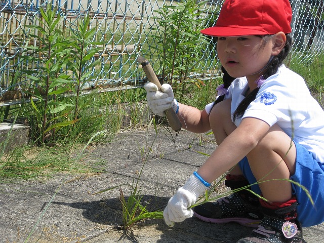
[[147,104],[154,114],[165,116],[165,111],[170,108],[178,113],[178,101],[174,99],[173,90],[169,84],[163,84],[159,91],[156,85],[149,82],[144,85],[144,89],[146,90]]

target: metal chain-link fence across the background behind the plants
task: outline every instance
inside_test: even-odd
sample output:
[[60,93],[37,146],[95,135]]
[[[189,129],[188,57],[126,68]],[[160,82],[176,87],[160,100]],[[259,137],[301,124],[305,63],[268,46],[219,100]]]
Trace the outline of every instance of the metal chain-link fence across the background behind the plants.
[[[156,10],[164,5],[177,5],[178,2],[167,0],[1,0],[0,2],[0,93],[4,94],[10,87],[28,84],[28,80],[13,84],[17,68],[24,68],[25,61],[20,54],[26,46],[37,46],[26,31],[29,24],[40,25],[39,8],[57,5],[57,15],[62,17],[61,28],[68,31],[75,29],[78,20],[89,14],[90,29],[95,28],[94,41],[104,42],[99,48],[97,57],[101,59],[100,67],[94,72],[100,73],[94,84],[123,86],[139,80],[137,57],[144,55],[153,64],[160,61],[156,43],[152,36],[158,32]],[[205,11],[200,18],[206,18],[206,26],[216,21],[222,0],[210,0],[203,5]],[[293,58],[297,62],[309,62],[323,51],[324,13],[323,0],[292,0],[293,37],[295,39]],[[154,32],[155,31],[155,32]],[[34,34],[37,34],[36,32]],[[199,62],[203,73],[211,73],[217,64],[215,50],[201,50],[205,62]],[[210,59],[213,59],[212,61]],[[159,65],[156,65],[157,67]],[[160,70],[156,68],[158,73]],[[35,72],[37,68],[35,67]],[[215,70],[214,70],[215,71]]]

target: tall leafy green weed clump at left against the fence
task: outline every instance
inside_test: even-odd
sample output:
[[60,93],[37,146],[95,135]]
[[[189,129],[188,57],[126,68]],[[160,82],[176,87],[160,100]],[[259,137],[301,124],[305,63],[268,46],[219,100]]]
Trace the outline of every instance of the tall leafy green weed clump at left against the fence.
[[[27,26],[30,38],[38,46],[27,46],[22,54],[22,59],[31,67],[37,66],[37,70],[26,68],[21,72],[32,80],[30,93],[38,99],[31,100],[35,113],[33,125],[37,127],[35,134],[39,135],[36,140],[44,143],[47,138],[53,139],[59,129],[79,121],[82,86],[97,77],[95,66],[100,59],[94,58],[99,51],[97,46],[103,43],[93,41],[96,29],[90,29],[88,14],[78,20],[71,36],[65,36],[57,7],[49,4],[40,12],[39,25]],[[34,30],[38,33],[32,34]],[[67,92],[75,99],[65,99]],[[74,113],[73,117],[70,113]]]

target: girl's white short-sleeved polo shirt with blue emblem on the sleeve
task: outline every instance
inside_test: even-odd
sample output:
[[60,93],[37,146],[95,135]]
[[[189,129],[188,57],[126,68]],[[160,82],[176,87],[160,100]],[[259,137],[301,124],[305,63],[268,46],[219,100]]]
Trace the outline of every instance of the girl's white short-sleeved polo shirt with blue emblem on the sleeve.
[[[248,88],[245,77],[232,82],[225,96],[225,99],[232,97],[232,114]],[[261,119],[270,127],[277,124],[295,142],[312,152],[318,162],[324,163],[324,111],[311,96],[304,79],[285,65],[267,78],[244,115],[234,121],[235,125],[246,117]]]

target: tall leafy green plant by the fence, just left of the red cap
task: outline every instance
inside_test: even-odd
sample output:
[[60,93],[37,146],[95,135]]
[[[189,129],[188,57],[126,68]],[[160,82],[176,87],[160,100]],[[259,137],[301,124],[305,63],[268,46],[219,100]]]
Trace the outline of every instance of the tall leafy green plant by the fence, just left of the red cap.
[[[158,27],[152,37],[157,44],[158,53],[162,53],[160,63],[162,76],[172,83],[174,76],[180,82],[197,68],[201,56],[201,46],[207,44],[199,31],[205,22],[201,18],[204,2],[181,0],[176,6],[164,5],[155,12]],[[161,35],[158,35],[161,33]]]

